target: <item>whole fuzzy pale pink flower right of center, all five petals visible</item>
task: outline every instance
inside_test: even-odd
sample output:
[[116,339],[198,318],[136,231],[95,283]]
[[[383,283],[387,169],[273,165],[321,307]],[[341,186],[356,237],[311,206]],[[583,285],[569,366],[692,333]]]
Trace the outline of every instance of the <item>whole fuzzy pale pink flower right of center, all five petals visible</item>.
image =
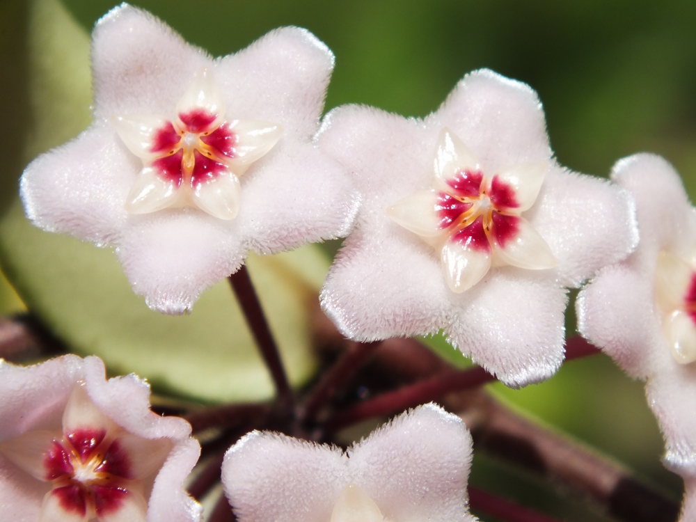
[[563,360],[566,287],[638,241],[630,196],[558,166],[528,86],[473,72],[423,120],[345,106],[319,145],[363,206],[322,290],[354,340],[427,335],[509,386]]

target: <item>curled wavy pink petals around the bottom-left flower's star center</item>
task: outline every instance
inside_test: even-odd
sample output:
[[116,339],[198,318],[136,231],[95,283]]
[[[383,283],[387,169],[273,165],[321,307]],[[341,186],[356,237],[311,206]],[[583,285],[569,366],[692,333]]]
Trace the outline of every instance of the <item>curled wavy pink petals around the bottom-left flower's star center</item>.
[[[149,493],[148,521],[198,522],[203,512],[184,489],[198,460],[200,445],[191,438],[188,422],[163,418],[150,411],[150,386],[128,375],[106,380],[97,357],[73,355],[19,367],[0,360],[0,443],[26,432],[61,429],[63,411],[77,385],[84,381],[94,404],[129,434],[165,439],[171,444],[155,477],[145,480]],[[49,484],[35,480],[0,452],[0,505],[11,520],[38,520]]]

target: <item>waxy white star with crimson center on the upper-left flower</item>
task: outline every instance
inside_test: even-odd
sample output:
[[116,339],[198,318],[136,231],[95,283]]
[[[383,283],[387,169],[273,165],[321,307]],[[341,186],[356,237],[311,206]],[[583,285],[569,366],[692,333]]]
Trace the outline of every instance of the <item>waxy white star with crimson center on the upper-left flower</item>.
[[114,115],[119,136],[143,161],[125,207],[146,214],[194,205],[219,219],[239,212],[239,177],[276,144],[280,125],[226,120],[212,72],[203,68],[176,106],[176,118]]

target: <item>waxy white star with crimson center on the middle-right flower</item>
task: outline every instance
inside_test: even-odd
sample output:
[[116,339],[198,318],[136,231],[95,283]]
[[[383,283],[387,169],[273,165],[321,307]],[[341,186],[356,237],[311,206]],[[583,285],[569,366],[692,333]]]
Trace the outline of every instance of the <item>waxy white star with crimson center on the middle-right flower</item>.
[[434,166],[433,188],[406,196],[387,213],[440,252],[452,292],[473,287],[491,266],[555,267],[551,248],[521,216],[537,199],[545,163],[509,166],[486,175],[466,145],[443,129]]

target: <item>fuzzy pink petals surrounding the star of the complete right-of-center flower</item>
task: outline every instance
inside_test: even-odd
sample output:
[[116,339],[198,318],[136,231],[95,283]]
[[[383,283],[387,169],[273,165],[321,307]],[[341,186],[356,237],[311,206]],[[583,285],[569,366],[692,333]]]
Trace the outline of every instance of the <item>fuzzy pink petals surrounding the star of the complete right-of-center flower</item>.
[[[442,244],[388,218],[390,206],[434,187],[443,129],[470,150],[485,176],[547,166],[539,195],[522,217],[548,244],[556,267],[494,268],[454,294],[441,273],[435,246]],[[562,363],[564,287],[578,286],[625,258],[637,242],[626,191],[558,166],[537,94],[490,70],[467,74],[440,109],[422,120],[364,106],[334,109],[317,141],[353,174],[363,200],[321,294],[324,311],[354,340],[444,329],[464,354],[509,386],[537,382]],[[502,257],[494,256],[493,267],[503,264]],[[549,255],[543,266],[551,264]]]

